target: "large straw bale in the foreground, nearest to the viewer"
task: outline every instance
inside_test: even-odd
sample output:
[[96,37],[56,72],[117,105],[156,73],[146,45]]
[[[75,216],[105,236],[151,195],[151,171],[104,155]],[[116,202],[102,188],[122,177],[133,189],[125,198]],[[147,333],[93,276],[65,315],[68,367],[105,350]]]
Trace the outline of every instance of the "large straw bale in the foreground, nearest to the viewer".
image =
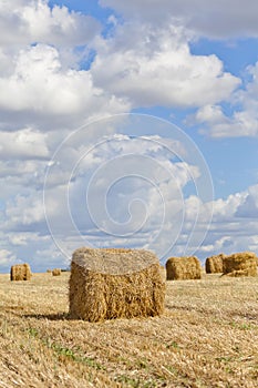
[[70,316],[101,321],[164,310],[165,282],[157,257],[140,249],[80,248],[70,275]]

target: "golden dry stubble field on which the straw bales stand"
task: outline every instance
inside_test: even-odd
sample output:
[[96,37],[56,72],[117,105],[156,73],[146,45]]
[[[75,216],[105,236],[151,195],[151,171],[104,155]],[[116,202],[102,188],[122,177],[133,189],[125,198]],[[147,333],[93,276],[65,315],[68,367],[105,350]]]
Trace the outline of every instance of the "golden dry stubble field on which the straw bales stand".
[[257,277],[167,282],[162,317],[91,324],[66,319],[69,276],[0,275],[1,388],[257,387]]

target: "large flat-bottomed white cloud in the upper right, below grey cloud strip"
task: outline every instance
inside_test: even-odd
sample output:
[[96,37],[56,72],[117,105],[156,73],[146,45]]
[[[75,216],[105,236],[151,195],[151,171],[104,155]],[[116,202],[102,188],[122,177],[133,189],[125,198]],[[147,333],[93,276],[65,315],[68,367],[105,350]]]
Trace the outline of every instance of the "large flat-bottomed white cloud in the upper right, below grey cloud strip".
[[240,80],[216,55],[193,55],[182,28],[136,22],[99,40],[94,83],[133,106],[200,106],[227,99]]

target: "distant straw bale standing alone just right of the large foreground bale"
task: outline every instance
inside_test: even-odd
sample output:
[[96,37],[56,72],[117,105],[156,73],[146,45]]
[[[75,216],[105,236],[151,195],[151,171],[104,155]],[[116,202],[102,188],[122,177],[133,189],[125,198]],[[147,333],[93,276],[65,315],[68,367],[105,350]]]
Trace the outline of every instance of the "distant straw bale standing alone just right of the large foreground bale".
[[167,280],[200,279],[202,266],[197,257],[171,257],[166,262]]

